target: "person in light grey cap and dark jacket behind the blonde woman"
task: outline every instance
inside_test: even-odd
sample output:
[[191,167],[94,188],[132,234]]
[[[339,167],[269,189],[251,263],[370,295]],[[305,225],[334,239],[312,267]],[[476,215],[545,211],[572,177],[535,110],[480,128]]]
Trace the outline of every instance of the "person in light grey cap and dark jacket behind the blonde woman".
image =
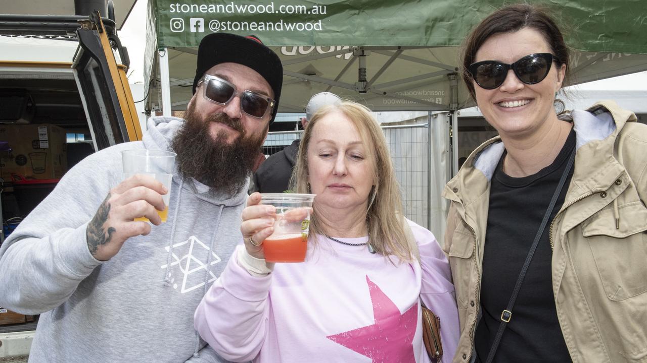
[[[305,118],[301,119],[303,129],[320,107],[337,105],[340,102],[341,99],[331,92],[315,94],[305,107]],[[281,193],[287,191],[300,142],[301,139],[296,139],[283,150],[270,155],[254,173],[250,192]]]

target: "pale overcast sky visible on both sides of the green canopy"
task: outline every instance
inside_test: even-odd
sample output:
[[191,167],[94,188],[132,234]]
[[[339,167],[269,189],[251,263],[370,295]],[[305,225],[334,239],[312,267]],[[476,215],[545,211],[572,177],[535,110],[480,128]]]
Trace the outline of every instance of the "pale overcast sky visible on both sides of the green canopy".
[[[128,49],[130,57],[128,81],[131,84],[143,83],[144,81],[146,3],[147,0],[137,0],[126,23],[122,26],[122,30],[118,32],[119,39]],[[645,90],[647,88],[647,71],[584,83],[576,87],[587,90]]]

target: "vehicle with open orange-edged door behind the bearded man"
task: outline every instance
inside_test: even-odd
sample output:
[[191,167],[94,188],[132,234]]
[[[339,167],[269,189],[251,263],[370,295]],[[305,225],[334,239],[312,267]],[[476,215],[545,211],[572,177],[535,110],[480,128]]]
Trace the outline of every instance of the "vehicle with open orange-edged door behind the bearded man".
[[[105,0],[23,0],[0,8],[12,13],[0,14],[0,214],[6,227],[0,244],[73,163],[142,137],[126,78],[127,51],[116,36],[135,0],[118,3],[126,8],[120,23]],[[59,15],[25,14],[32,11]],[[83,142],[68,143],[70,137]],[[0,307],[0,360],[27,355],[36,324],[38,316]]]

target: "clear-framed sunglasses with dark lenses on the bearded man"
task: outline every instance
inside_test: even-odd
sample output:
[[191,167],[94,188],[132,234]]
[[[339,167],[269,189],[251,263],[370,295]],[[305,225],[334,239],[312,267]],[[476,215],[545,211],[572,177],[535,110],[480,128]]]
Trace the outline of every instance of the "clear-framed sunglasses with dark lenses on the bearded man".
[[241,100],[241,110],[253,118],[263,118],[274,107],[274,99],[250,90],[239,92],[232,83],[217,76],[205,74],[197,85],[200,86],[201,83],[204,83],[204,98],[217,105],[225,106],[238,96]]

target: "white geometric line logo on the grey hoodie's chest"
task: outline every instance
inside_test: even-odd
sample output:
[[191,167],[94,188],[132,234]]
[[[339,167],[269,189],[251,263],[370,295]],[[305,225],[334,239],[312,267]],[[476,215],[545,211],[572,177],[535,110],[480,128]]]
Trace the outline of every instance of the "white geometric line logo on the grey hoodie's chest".
[[[207,267],[206,262],[203,262],[201,259],[195,258],[195,256],[193,256],[193,252],[194,252],[193,250],[197,249],[198,251],[196,251],[196,252],[199,252],[199,250],[200,250],[199,247],[202,247],[203,249],[206,249],[206,251],[211,251],[211,249],[207,245],[203,244],[203,242],[201,240],[199,240],[196,236],[190,236],[188,240],[186,240],[184,242],[180,242],[179,244],[174,244],[173,245],[173,251],[178,251],[179,247],[182,247],[182,246],[187,245],[187,244],[188,244],[188,252],[186,254],[184,254],[184,256],[182,256],[182,258],[179,258],[177,256],[177,254],[175,254],[175,252],[173,252],[171,254],[171,256],[173,256],[173,260],[174,260],[173,262],[171,262],[171,270],[173,270],[173,266],[178,265],[179,270],[182,273],[182,286],[181,286],[181,289],[180,289],[180,292],[182,294],[188,293],[189,291],[193,291],[195,289],[198,289],[199,287],[203,287],[204,286],[204,274],[205,273],[209,274],[208,282],[214,282],[216,277],[215,277],[214,273],[211,272],[210,267],[217,264],[218,262],[221,262],[221,258],[218,257],[217,254],[215,254],[213,252],[211,252],[212,258],[211,258],[211,262],[209,264],[209,267]],[[187,247],[184,247],[185,251],[186,251],[186,248]],[[168,252],[169,247],[166,246],[166,247],[164,247],[164,249],[166,249],[166,252]],[[167,265],[164,264],[164,265],[161,266],[161,268],[166,269],[166,266]],[[207,272],[205,272],[205,270]],[[177,271],[177,269],[175,269],[175,271]],[[173,273],[175,271],[172,271],[171,273]],[[190,282],[188,281],[190,276],[192,274],[195,274],[195,273],[200,274],[199,275],[199,277],[200,277],[199,278],[199,283],[193,284],[193,285],[188,285],[188,284],[190,284]],[[175,275],[171,275],[171,284],[173,284],[173,289],[177,290],[178,285],[175,282],[176,277],[177,276],[175,276]],[[194,278],[192,278],[192,280],[195,281],[195,277],[196,276],[194,275]]]

